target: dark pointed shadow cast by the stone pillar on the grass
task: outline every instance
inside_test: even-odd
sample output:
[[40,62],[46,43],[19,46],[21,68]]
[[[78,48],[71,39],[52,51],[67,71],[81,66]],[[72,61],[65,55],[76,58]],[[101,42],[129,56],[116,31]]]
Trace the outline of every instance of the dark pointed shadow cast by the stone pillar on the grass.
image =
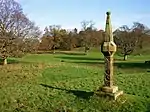
[[73,95],[77,96],[78,98],[82,98],[82,99],[86,99],[86,100],[88,100],[90,98],[90,96],[94,95],[94,92],[86,92],[86,91],[81,91],[81,90],[67,90],[67,89],[63,89],[63,88],[49,86],[46,84],[40,84],[40,85],[43,87],[51,88],[51,89],[66,91],[67,93],[72,93]]

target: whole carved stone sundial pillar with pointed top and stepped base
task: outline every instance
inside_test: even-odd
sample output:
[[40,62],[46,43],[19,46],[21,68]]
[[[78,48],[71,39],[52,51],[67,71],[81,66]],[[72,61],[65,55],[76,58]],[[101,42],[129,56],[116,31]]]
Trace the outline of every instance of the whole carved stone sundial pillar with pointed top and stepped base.
[[123,91],[118,91],[118,86],[114,86],[113,83],[113,57],[117,50],[117,46],[114,43],[113,32],[111,26],[110,12],[107,12],[105,36],[103,44],[101,45],[101,52],[104,55],[104,84],[100,88],[101,93],[113,97],[115,100],[118,96],[123,94]]

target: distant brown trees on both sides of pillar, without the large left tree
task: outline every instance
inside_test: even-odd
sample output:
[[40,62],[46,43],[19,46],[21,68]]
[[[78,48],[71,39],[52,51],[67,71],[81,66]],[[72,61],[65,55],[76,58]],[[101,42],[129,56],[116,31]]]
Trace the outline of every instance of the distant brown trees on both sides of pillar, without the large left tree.
[[[85,53],[91,47],[100,47],[103,43],[105,32],[97,30],[92,21],[81,22],[82,30],[67,31],[60,26],[51,25],[45,28],[39,50],[50,51],[55,49],[72,50],[78,47],[84,47]],[[124,60],[135,50],[143,49],[143,46],[150,42],[150,29],[139,22],[134,22],[129,28],[123,25],[113,32],[114,41],[118,47],[118,53],[122,54]],[[139,52],[140,53],[140,52]]]

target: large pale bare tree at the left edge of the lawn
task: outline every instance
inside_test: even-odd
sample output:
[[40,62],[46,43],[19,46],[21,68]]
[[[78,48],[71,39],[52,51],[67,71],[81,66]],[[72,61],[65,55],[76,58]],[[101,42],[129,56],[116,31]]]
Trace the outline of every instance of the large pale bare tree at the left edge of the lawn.
[[0,0],[0,57],[7,64],[7,57],[24,51],[24,39],[40,35],[40,30],[23,14],[19,3]]

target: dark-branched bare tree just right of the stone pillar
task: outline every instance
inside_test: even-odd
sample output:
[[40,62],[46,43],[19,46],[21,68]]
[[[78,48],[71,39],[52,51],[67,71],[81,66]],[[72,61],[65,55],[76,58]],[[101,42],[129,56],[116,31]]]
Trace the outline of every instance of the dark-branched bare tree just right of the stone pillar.
[[134,50],[140,45],[142,47],[142,36],[146,35],[149,30],[141,23],[134,23],[131,28],[127,25],[123,25],[114,32],[115,42],[121,53],[124,56],[124,60],[127,60],[127,56],[134,52]]

